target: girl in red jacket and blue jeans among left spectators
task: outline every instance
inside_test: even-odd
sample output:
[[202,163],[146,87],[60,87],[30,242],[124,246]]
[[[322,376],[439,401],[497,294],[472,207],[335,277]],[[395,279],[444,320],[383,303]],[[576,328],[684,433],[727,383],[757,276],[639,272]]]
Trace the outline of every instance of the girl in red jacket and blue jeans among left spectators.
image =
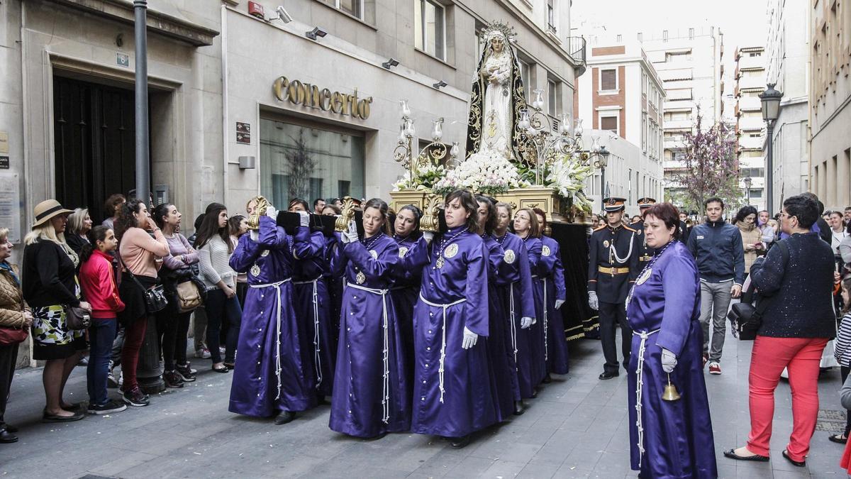
[[118,240],[111,228],[96,226],[89,232],[89,244],[80,253],[80,286],[83,295],[92,305],[92,326],[89,327],[89,414],[118,413],[127,409],[121,401],[106,395],[106,375],[109,373],[112,341],[117,331],[117,313],[124,303],[118,297],[115,271],[112,269],[112,251]]

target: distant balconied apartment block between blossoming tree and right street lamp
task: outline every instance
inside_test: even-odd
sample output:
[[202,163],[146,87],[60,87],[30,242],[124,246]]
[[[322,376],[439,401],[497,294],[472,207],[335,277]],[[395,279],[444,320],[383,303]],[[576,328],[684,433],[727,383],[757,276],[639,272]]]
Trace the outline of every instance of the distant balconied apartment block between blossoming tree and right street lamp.
[[762,102],[765,91],[765,47],[747,46],[736,49],[734,72],[736,160],[739,164],[739,186],[749,205],[762,210],[767,204],[765,191],[765,122]]

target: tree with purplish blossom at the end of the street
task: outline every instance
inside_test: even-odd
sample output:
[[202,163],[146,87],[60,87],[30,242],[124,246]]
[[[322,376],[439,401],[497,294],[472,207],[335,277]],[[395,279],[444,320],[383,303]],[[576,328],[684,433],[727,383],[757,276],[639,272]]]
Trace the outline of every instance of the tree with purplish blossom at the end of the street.
[[741,200],[733,132],[723,123],[703,131],[702,122],[699,108],[694,133],[683,134],[685,151],[680,157],[683,168],[673,176],[674,182],[683,188],[677,200],[688,211],[703,211],[703,202],[713,196],[729,205],[737,205]]

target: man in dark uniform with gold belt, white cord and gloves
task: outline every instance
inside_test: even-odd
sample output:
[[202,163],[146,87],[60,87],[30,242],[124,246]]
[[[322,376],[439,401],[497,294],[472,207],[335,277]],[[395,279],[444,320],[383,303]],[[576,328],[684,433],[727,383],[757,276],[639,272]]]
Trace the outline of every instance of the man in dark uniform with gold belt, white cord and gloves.
[[600,379],[618,376],[618,350],[615,327],[620,325],[624,368],[630,362],[632,331],[626,323],[625,301],[637,275],[638,249],[636,230],[621,223],[625,199],[606,198],[606,224],[591,234],[588,262],[588,305],[599,311],[600,337],[606,364]]

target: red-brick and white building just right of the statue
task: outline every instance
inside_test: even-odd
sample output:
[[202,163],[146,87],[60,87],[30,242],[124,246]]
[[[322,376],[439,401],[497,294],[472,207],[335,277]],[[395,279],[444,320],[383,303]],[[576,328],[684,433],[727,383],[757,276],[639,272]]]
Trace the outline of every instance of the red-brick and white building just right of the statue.
[[[662,104],[665,89],[640,43],[588,38],[588,70],[577,80],[574,113],[590,121],[593,135],[612,153],[606,169],[589,178],[585,191],[598,211],[607,193],[627,200],[627,210],[649,196],[662,199]],[[617,140],[617,141],[616,141]],[[615,153],[616,152],[616,153]]]

